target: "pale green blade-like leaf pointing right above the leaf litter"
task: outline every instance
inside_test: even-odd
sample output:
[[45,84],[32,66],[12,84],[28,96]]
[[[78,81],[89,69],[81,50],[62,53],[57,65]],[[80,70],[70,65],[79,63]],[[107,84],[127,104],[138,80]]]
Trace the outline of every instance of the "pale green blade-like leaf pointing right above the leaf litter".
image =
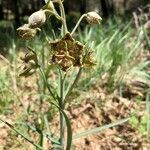
[[97,127],[97,128],[94,128],[94,129],[90,129],[90,130],[87,130],[87,131],[84,131],[84,132],[81,132],[81,133],[78,133],[76,135],[73,136],[73,140],[75,139],[78,139],[78,138],[81,138],[83,136],[88,136],[88,135],[93,135],[93,134],[97,134],[103,130],[106,130],[108,128],[111,128],[111,127],[115,127],[117,125],[120,125],[120,124],[123,124],[127,121],[129,121],[130,117],[128,118],[125,118],[125,119],[121,119],[121,120],[118,120],[114,123],[110,123],[108,125],[104,125],[104,126],[101,126],[101,127]]

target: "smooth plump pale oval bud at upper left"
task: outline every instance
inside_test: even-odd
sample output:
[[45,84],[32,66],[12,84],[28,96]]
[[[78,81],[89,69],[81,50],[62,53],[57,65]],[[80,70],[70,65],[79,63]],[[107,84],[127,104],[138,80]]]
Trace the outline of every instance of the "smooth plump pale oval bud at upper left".
[[35,13],[33,13],[29,19],[29,27],[31,28],[38,28],[42,26],[46,21],[46,15],[44,10],[39,10]]

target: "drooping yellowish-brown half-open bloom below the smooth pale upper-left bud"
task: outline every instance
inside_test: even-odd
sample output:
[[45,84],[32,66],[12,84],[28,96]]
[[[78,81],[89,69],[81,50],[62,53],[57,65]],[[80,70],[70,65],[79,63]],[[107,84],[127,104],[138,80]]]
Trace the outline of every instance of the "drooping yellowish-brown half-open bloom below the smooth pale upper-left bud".
[[19,37],[21,37],[24,40],[32,39],[37,33],[37,29],[29,28],[28,24],[24,24],[23,26],[19,27],[17,31]]

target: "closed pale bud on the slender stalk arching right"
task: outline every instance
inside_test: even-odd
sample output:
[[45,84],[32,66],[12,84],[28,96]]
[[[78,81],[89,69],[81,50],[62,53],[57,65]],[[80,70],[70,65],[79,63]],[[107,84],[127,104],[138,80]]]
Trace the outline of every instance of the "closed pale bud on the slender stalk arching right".
[[100,24],[102,18],[96,12],[91,11],[86,14],[86,20],[90,24]]

